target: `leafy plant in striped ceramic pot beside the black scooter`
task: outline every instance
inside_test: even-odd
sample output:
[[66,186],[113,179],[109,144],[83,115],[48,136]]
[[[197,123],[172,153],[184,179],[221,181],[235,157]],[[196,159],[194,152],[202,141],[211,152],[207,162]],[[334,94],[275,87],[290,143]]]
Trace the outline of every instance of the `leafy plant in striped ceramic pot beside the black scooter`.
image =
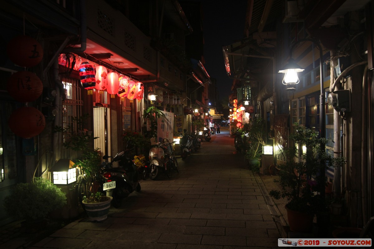
[[107,218],[110,208],[110,202],[113,199],[110,196],[104,196],[100,192],[101,186],[101,158],[98,148],[91,149],[92,142],[97,137],[89,133],[84,128],[85,121],[89,115],[85,114],[79,118],[73,118],[76,124],[77,132],[74,132],[73,126],[55,127],[55,132],[64,134],[65,142],[63,146],[68,150],[80,152],[81,155],[76,160],[75,166],[79,168],[77,177],[77,190],[79,201],[83,209],[86,210],[90,220],[102,221]]

